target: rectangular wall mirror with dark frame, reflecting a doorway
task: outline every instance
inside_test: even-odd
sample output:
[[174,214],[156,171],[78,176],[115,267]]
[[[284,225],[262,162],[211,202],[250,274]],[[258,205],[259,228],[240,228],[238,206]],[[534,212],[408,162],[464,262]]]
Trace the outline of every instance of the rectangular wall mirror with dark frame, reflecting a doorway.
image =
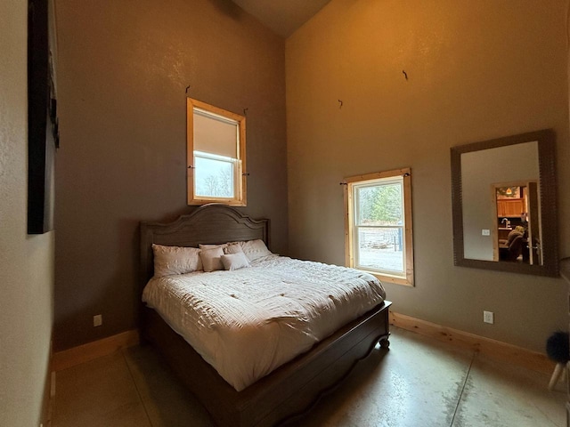
[[455,265],[558,276],[554,133],[452,147]]

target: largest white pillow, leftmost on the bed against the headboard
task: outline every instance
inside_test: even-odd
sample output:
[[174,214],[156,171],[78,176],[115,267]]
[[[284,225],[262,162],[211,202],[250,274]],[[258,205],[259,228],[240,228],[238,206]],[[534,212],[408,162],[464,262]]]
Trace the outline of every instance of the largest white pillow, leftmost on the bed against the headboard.
[[155,278],[202,270],[199,248],[197,247],[152,244],[152,253],[154,254]]

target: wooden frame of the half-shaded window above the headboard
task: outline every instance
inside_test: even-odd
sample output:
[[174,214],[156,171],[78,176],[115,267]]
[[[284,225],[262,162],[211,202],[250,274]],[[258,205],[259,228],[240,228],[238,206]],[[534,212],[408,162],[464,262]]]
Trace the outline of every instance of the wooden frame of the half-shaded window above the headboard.
[[[212,116],[223,117],[236,122],[238,134],[236,137],[237,150],[240,161],[240,171],[235,176],[235,197],[197,197],[194,189],[194,110],[198,109]],[[206,102],[186,99],[186,177],[188,205],[206,205],[208,203],[223,203],[224,205],[247,205],[247,173],[246,173],[246,117],[225,109],[220,109]],[[239,176],[240,175],[240,176]]]

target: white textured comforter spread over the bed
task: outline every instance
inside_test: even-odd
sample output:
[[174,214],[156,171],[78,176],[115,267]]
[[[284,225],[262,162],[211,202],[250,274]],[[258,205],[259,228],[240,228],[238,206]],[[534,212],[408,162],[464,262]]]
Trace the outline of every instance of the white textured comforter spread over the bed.
[[385,296],[362,271],[269,255],[241,270],[152,278],[142,301],[240,391]]

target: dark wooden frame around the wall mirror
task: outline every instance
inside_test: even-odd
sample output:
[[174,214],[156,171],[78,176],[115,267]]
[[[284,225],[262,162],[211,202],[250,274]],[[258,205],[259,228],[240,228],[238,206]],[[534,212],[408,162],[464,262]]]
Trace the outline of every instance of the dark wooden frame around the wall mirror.
[[[509,271],[513,273],[558,277],[558,212],[555,163],[555,133],[551,129],[473,142],[452,147],[452,214],[453,263],[460,267]],[[465,258],[463,237],[463,203],[461,195],[461,154],[482,149],[495,149],[524,142],[538,141],[541,192],[542,265],[517,262],[494,262]]]

